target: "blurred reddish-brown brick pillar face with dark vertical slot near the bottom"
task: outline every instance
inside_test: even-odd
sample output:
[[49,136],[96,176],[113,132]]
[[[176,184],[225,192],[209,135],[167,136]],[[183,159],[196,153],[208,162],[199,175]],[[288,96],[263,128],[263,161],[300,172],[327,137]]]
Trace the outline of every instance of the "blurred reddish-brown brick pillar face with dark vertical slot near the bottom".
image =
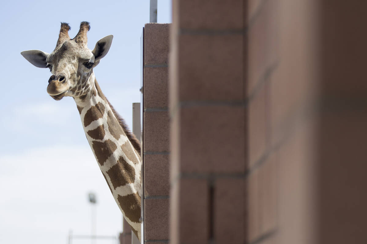
[[172,1],[171,243],[244,243],[243,1]]

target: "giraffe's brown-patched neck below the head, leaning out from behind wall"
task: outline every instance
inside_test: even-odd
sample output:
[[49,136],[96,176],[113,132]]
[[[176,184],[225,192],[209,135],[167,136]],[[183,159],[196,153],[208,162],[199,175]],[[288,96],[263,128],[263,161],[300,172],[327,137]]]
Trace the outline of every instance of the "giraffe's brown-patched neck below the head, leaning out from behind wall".
[[75,99],[81,123],[99,168],[121,212],[140,240],[141,161],[113,108],[103,95],[94,74],[91,91],[84,99]]

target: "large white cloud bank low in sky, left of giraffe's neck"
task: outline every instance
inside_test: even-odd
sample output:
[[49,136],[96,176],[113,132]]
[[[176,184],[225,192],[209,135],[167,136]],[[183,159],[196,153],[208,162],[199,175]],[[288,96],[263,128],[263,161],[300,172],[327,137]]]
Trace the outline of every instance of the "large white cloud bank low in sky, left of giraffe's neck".
[[0,243],[64,244],[69,229],[90,234],[89,191],[97,194],[97,234],[121,231],[121,212],[88,146],[2,155],[0,165]]

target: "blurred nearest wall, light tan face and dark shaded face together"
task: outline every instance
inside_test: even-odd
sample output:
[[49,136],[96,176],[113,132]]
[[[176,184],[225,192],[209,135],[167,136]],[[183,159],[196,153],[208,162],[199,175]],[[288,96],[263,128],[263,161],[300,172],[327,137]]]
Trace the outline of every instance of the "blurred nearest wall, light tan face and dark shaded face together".
[[367,4],[248,7],[248,241],[365,243]]

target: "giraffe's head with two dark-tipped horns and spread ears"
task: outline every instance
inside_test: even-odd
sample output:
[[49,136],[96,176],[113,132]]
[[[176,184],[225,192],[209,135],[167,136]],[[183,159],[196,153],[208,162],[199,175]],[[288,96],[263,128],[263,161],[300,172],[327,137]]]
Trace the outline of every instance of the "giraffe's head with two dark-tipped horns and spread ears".
[[64,96],[83,99],[91,91],[93,68],[108,53],[113,36],[103,37],[90,50],[87,46],[89,29],[88,22],[81,22],[78,34],[71,39],[69,24],[61,23],[59,39],[51,54],[40,50],[21,52],[34,66],[50,69],[52,75],[48,79],[47,93],[55,100],[61,100]]

